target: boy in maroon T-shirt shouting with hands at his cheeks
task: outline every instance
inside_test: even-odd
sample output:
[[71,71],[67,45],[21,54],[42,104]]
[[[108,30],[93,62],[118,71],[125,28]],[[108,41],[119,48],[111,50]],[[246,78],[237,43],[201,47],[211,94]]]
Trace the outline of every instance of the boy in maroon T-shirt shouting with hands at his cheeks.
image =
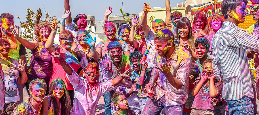
[[195,96],[190,115],[211,115],[214,114],[214,107],[211,103],[212,98],[220,94],[223,83],[216,80],[213,75],[212,59],[203,62],[201,80],[192,89],[192,96]]

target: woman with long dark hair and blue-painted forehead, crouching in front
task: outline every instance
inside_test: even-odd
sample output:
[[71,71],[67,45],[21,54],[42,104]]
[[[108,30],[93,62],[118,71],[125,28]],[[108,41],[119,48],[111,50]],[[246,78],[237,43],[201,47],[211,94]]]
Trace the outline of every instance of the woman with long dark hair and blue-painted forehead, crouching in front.
[[69,115],[71,101],[62,79],[50,83],[49,95],[42,101],[42,115]]

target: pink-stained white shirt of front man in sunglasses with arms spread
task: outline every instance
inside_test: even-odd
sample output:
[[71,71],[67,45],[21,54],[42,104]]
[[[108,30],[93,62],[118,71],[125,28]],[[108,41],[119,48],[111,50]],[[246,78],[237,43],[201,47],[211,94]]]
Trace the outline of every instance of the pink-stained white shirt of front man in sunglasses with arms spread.
[[79,77],[74,70],[71,75],[66,74],[66,76],[75,89],[71,115],[94,115],[100,97],[116,88],[113,87],[112,80],[109,80],[104,83],[96,82],[91,89],[89,82],[85,78]]

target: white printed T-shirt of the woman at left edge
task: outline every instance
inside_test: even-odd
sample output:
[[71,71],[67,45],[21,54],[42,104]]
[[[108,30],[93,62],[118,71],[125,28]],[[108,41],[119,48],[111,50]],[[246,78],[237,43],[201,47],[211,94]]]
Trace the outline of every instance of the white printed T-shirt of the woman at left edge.
[[18,67],[18,61],[10,58],[9,60],[0,59],[2,69],[4,73],[5,81],[5,103],[12,103],[20,101],[19,91],[17,88],[17,79],[19,77],[19,71],[14,67]]

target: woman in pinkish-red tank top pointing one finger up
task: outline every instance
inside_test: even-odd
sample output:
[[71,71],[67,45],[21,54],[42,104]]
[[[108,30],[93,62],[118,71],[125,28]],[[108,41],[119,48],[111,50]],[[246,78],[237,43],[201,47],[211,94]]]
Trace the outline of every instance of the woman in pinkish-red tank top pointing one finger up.
[[[59,41],[60,45],[53,44],[55,34],[58,30],[58,25],[56,23],[56,19],[54,18],[54,21],[51,22],[51,33],[49,35],[49,38],[46,41],[46,49],[49,51],[49,53],[52,53],[53,51],[59,51],[61,55],[64,57],[64,60],[67,62],[73,70],[76,72],[80,71],[80,62],[77,60],[77,55],[75,55],[75,52],[71,50],[71,45],[74,39],[73,34],[68,30],[63,30],[59,34]],[[52,60],[53,63],[53,72],[50,77],[50,82],[52,82],[56,78],[60,78],[64,81],[66,88],[68,90],[68,93],[71,98],[71,105],[73,105],[73,99],[74,99],[74,88],[69,82],[69,80],[66,77],[66,73],[62,69],[62,66],[60,65],[60,62],[54,58]]]

